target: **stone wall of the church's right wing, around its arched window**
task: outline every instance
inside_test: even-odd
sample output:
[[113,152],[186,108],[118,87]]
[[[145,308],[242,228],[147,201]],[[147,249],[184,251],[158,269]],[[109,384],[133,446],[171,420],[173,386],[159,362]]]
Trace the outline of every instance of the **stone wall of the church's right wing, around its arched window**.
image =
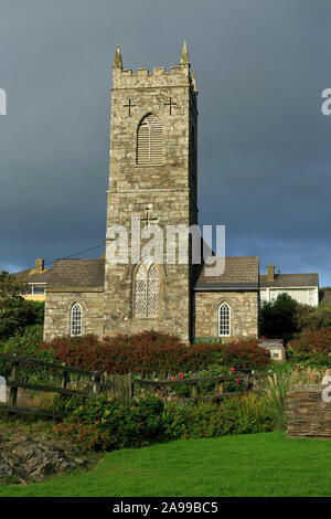
[[196,292],[195,338],[218,337],[218,307],[222,303],[227,303],[231,308],[231,336],[222,337],[222,342],[258,336],[257,292]]

